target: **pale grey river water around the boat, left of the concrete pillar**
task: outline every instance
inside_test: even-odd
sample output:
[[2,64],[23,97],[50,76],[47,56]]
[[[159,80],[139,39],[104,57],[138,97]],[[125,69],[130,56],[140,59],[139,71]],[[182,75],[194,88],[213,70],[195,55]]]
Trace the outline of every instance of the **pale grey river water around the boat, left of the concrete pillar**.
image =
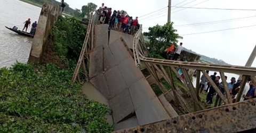
[[38,21],[41,8],[18,0],[0,0],[0,3],[0,68],[10,67],[17,61],[26,63],[33,38],[18,35],[4,26],[22,30],[28,18],[31,24]]

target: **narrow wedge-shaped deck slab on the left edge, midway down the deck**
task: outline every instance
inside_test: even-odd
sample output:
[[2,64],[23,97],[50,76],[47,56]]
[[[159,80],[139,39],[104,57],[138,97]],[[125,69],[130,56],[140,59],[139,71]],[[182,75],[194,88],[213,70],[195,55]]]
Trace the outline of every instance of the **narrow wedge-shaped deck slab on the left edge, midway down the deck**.
[[105,96],[107,99],[110,98],[110,93],[109,93],[109,89],[108,89],[108,85],[106,82],[106,79],[104,77],[104,75],[101,73],[96,77],[93,77],[92,79],[90,79],[91,84],[99,90],[99,92]]

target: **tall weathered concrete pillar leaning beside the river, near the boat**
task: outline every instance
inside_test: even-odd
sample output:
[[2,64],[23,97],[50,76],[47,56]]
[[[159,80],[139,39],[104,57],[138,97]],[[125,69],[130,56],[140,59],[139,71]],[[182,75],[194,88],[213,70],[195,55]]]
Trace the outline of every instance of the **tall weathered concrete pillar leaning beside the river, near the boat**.
[[41,63],[44,48],[49,38],[50,31],[55,22],[58,20],[61,12],[62,7],[44,3],[39,16],[28,62],[33,62],[35,64]]

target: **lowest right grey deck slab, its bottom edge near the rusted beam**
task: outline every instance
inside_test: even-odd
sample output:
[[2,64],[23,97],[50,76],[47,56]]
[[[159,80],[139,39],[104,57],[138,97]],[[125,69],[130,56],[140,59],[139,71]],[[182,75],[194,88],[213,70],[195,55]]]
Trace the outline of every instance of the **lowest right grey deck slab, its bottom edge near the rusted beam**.
[[170,118],[157,97],[140,106],[135,113],[140,125]]

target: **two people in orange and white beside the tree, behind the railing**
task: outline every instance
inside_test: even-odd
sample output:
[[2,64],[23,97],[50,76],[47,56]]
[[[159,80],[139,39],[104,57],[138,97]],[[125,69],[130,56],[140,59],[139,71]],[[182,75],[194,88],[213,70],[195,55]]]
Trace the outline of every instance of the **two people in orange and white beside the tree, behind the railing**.
[[182,43],[178,47],[174,47],[174,44],[171,43],[171,46],[165,49],[165,58],[167,60],[174,60],[177,61],[180,53],[183,51]]

